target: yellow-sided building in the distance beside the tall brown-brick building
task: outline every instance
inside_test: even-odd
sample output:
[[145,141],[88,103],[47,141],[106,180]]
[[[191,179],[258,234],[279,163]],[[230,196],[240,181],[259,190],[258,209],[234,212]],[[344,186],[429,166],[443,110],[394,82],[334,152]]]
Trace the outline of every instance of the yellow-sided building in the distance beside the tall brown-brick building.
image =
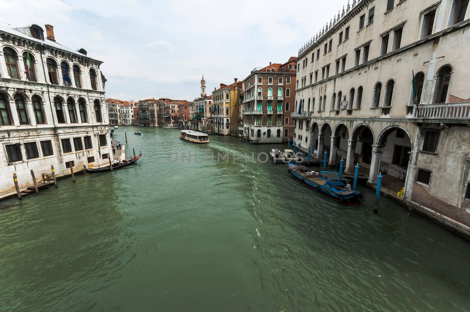
[[240,109],[240,96],[243,94],[243,82],[220,84],[219,89],[212,91],[212,129],[214,133],[224,136],[237,135]]

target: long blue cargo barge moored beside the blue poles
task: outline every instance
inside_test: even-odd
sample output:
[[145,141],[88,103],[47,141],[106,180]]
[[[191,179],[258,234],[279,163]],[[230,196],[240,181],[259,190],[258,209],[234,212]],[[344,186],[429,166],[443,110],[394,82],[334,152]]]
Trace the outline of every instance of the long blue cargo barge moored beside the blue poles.
[[[301,183],[305,183],[313,190],[319,191],[324,195],[336,199],[337,201],[359,204],[360,198],[362,198],[362,194],[360,192],[356,190],[347,190],[343,180],[330,180],[326,178],[326,176],[335,176],[331,174],[328,175],[329,172],[327,171],[310,171],[306,167],[299,166],[294,163],[289,163],[288,168],[288,172]],[[336,174],[336,176],[339,177],[338,174]]]

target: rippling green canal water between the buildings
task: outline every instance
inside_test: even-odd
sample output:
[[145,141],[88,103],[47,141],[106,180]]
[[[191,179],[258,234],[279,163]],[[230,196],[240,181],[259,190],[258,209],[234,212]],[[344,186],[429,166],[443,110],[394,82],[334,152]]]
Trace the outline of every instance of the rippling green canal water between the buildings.
[[374,214],[365,188],[340,205],[256,157],[168,156],[274,145],[124,129],[137,166],[0,203],[1,311],[470,311],[470,244],[432,222],[385,198]]

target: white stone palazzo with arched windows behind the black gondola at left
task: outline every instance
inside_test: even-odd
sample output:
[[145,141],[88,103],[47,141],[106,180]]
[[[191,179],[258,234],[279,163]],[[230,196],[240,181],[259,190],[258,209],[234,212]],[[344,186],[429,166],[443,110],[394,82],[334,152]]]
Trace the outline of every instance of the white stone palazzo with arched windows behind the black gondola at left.
[[108,164],[102,62],[56,43],[53,26],[45,28],[0,23],[0,191],[14,189],[14,173],[23,187],[31,170],[39,180],[51,165],[64,175],[69,161],[74,170]]

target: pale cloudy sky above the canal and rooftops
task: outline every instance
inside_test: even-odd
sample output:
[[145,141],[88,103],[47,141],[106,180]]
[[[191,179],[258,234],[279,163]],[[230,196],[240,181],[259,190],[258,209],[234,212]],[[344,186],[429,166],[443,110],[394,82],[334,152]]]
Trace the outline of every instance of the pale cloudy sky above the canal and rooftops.
[[199,96],[283,63],[347,0],[0,0],[13,27],[54,26],[55,40],[103,61],[108,98]]

